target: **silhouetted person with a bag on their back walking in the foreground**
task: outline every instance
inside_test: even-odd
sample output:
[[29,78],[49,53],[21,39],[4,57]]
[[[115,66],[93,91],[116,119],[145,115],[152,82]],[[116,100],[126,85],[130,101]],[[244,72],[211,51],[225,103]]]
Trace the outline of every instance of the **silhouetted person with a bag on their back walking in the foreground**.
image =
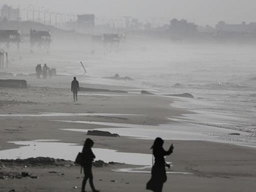
[[89,185],[92,188],[92,192],[99,192],[95,189],[93,185],[93,176],[92,176],[92,161],[95,159],[95,155],[92,153],[92,146],[94,142],[92,139],[87,138],[84,142],[84,147],[82,150],[82,161],[84,168],[84,180],[81,185],[81,192],[85,191],[85,185],[87,184],[87,180],[89,179]]

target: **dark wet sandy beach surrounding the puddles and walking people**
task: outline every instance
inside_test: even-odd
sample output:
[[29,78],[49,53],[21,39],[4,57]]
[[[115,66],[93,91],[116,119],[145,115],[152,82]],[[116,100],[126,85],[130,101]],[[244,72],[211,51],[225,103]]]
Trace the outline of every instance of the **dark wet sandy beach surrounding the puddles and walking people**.
[[[21,78],[20,78],[21,79]],[[107,128],[96,124],[68,123],[56,120],[95,121],[104,123],[128,123],[156,126],[172,123],[167,118],[189,113],[170,107],[172,97],[130,93],[79,93],[73,103],[70,92],[72,77],[54,77],[52,80],[37,80],[23,77],[27,89],[0,88],[0,115],[39,114],[42,112],[110,113],[126,116],[73,115],[51,117],[1,116],[0,150],[17,148],[12,141],[34,139],[58,139],[60,142],[82,145],[87,135],[78,131],[63,131],[63,128]],[[78,79],[79,80],[79,79]],[[83,85],[81,85],[83,86]],[[84,85],[90,88],[127,90],[120,86]],[[126,153],[150,154],[151,139],[130,137],[97,137],[95,148],[118,150]],[[167,157],[172,162],[164,191],[255,191],[255,148],[240,147],[218,142],[166,140],[165,147],[175,145],[175,152]],[[65,150],[65,149],[62,149]],[[58,152],[56,152],[58,153]],[[4,158],[4,157],[0,157]],[[95,185],[100,191],[146,191],[145,184],[150,173],[114,172],[114,169],[136,167],[113,164],[94,167]],[[1,177],[0,191],[81,191],[80,167],[70,161],[62,165],[24,165],[0,163],[0,175],[29,172],[37,177],[12,179]],[[178,172],[178,173],[175,173]],[[189,174],[181,174],[186,172]],[[87,186],[89,191],[89,186]]]

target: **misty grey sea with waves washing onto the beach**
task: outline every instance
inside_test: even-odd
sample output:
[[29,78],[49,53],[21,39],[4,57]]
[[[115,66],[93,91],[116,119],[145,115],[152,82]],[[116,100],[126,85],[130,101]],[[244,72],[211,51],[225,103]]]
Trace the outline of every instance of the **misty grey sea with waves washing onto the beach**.
[[[249,136],[222,136],[256,143],[256,45],[142,42],[87,59],[87,77],[101,82],[145,89],[158,95],[191,93],[173,107],[197,112],[177,121],[245,131]],[[96,52],[97,53],[97,52]],[[132,81],[102,77],[131,77]]]

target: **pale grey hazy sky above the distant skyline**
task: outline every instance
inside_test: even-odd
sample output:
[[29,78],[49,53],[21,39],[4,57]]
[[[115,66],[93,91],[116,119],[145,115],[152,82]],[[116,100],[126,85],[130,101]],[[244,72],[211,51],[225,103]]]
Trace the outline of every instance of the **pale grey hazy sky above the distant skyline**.
[[[185,18],[198,25],[256,22],[256,0],[0,0],[0,5],[106,17]],[[41,8],[42,9],[42,8]]]

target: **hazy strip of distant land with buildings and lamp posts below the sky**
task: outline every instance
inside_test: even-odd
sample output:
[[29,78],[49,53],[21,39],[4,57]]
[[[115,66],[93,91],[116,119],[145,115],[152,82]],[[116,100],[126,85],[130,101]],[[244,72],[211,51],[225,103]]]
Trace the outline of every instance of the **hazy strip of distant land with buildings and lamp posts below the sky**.
[[[145,20],[131,16],[106,18],[96,17],[94,14],[51,12],[49,9],[33,5],[28,5],[25,9],[14,9],[4,5],[0,8],[0,12],[1,33],[8,30],[16,33],[10,34],[9,39],[0,37],[0,44],[4,43],[4,47],[1,48],[9,48],[14,42],[17,47],[21,42],[24,42],[23,45],[29,45],[29,39],[31,48],[48,48],[51,44],[51,34],[48,32],[50,30],[53,34],[55,32],[56,36],[67,31],[73,35],[91,36],[92,42],[100,42],[105,47],[111,48],[118,47],[119,42],[125,40],[125,37],[169,39],[175,42],[256,42],[256,22],[230,24],[219,21],[216,26],[198,26],[186,19],[159,17]],[[17,28],[21,34],[14,32]],[[29,34],[30,28],[37,31],[30,31]]]

